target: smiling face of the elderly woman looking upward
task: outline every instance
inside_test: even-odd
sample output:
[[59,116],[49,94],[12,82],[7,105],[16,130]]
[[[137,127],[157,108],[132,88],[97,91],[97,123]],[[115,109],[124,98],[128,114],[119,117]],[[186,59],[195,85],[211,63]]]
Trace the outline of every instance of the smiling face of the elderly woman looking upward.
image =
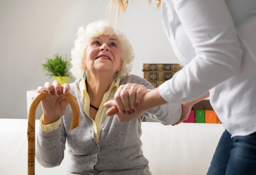
[[84,68],[90,72],[104,71],[115,74],[121,69],[121,52],[115,35],[101,35],[91,39],[84,52]]

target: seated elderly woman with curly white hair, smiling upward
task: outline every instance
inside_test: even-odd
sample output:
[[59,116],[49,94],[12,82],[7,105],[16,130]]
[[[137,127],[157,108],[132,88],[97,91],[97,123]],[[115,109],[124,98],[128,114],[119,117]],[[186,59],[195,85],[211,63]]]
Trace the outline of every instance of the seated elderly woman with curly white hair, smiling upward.
[[[68,174],[151,174],[141,150],[143,117],[171,125],[181,115],[188,115],[191,106],[165,104],[148,111],[135,110],[142,95],[154,88],[147,80],[129,75],[134,56],[126,36],[105,21],[93,22],[86,30],[79,28],[77,36],[70,70],[77,80],[63,86],[58,81],[46,82],[44,87],[38,87],[38,93],[50,95],[42,100],[44,113],[36,140],[37,161],[44,167],[60,165],[68,141]],[[136,106],[116,116],[134,116],[136,119],[130,122],[106,116],[108,108],[103,105],[124,84],[129,89],[123,88],[121,94],[129,93]],[[74,95],[80,107],[80,126],[71,131],[72,110],[61,92]]]

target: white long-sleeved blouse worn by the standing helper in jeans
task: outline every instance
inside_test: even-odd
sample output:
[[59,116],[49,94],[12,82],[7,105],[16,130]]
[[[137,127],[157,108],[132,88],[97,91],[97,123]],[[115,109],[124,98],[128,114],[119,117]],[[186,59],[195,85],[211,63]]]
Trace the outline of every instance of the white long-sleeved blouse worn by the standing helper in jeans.
[[256,0],[162,0],[162,23],[185,65],[159,86],[169,103],[210,91],[232,137],[256,132]]

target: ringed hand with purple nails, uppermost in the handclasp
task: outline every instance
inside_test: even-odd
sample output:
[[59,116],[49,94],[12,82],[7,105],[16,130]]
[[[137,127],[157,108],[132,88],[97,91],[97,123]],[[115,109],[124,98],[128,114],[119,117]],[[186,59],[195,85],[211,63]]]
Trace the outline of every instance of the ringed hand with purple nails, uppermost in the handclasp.
[[142,96],[147,92],[145,86],[136,83],[121,85],[114,95],[117,109],[123,114],[135,114],[141,104]]

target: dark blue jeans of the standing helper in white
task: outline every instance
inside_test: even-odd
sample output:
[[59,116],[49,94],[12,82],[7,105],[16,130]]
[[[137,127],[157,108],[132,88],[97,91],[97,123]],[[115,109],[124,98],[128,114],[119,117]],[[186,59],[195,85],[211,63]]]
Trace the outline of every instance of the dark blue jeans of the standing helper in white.
[[256,133],[231,138],[225,130],[207,175],[256,175]]

